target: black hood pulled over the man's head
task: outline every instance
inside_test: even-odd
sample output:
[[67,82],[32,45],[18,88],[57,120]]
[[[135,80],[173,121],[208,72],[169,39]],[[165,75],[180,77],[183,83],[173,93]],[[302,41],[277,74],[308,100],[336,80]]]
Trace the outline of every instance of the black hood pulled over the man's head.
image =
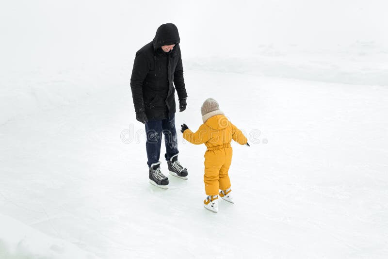
[[179,44],[180,38],[178,28],[173,23],[165,23],[159,26],[155,38],[152,40],[154,49],[159,49],[164,45]]

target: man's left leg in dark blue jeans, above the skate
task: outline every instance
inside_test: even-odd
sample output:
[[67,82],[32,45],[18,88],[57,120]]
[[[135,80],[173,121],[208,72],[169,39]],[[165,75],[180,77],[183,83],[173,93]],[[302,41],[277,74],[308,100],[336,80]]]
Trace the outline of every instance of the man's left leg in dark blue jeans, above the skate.
[[162,143],[162,120],[150,120],[146,123],[146,150],[148,167],[159,162]]

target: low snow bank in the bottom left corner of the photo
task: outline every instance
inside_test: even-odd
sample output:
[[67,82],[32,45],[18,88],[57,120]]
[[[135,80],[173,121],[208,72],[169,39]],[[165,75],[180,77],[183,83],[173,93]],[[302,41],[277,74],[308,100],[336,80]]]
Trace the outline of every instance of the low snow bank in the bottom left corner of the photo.
[[0,214],[1,259],[93,259],[76,245],[49,237],[13,218]]

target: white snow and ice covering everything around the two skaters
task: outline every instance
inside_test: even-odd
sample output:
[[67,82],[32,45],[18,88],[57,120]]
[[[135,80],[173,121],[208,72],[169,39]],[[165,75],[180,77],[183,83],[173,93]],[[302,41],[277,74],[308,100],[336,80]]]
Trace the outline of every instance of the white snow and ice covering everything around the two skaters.
[[[324,22],[323,3],[211,2],[197,23],[201,2],[172,4],[189,95],[177,127],[197,129],[213,97],[251,144],[232,144],[236,203],[213,214],[205,146],[180,132],[189,179],[148,183],[129,74],[163,3],[2,3],[0,258],[387,258],[386,9],[336,4]],[[247,43],[213,44],[227,28]]]

